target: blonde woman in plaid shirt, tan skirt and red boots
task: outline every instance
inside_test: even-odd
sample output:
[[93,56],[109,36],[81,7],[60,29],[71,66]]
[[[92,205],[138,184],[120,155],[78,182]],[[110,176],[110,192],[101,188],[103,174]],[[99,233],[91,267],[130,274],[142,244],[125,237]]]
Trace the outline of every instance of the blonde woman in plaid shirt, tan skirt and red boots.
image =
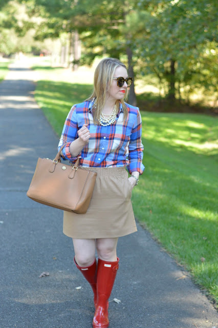
[[94,292],[94,328],[109,325],[118,237],[137,231],[130,197],[144,166],[139,109],[124,103],[132,81],[121,61],[102,59],[92,95],[72,107],[58,145],[66,144],[63,159],[75,162],[79,156],[82,169],[97,172],[88,211],[63,215],[63,233],[73,238],[76,267]]

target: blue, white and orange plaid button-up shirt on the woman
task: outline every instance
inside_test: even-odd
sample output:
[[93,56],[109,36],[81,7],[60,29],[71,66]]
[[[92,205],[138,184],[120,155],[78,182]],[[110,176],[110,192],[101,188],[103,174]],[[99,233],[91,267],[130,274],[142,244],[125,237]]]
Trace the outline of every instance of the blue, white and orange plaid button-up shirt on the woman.
[[85,167],[122,167],[126,166],[131,174],[138,171],[142,174],[143,145],[141,142],[142,120],[138,107],[126,104],[128,118],[123,121],[123,109],[120,103],[119,113],[114,124],[103,127],[93,122],[93,101],[74,105],[64,123],[58,149],[63,145],[61,157],[75,162],[69,147],[78,138],[77,131],[83,124],[88,124],[90,131],[89,143],[78,156],[80,165]]

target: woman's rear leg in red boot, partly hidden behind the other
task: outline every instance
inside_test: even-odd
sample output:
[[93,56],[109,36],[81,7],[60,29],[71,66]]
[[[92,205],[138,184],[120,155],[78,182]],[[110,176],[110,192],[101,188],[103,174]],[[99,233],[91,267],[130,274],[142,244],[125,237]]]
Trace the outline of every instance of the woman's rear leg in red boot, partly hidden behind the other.
[[74,244],[74,262],[77,269],[82,273],[85,279],[90,283],[94,293],[94,303],[97,303],[97,264],[95,259],[95,239],[75,239]]

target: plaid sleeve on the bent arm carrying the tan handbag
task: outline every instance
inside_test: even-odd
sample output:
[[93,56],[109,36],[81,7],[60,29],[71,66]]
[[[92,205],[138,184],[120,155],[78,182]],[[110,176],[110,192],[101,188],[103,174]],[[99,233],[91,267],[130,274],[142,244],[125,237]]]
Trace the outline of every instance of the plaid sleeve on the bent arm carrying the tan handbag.
[[78,132],[77,114],[76,114],[76,105],[74,105],[71,108],[64,122],[63,130],[58,144],[58,150],[62,145],[66,144],[61,151],[61,158],[63,160],[70,160],[70,161],[76,160],[77,156],[72,157],[70,153],[70,145],[72,141],[77,139],[78,137],[77,132]]

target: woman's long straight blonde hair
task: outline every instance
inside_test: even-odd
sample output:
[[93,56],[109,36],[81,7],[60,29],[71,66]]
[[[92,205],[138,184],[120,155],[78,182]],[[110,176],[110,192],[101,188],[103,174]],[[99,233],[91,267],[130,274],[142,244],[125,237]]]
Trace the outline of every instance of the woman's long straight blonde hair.
[[[104,58],[100,61],[98,66],[95,69],[94,74],[94,90],[91,96],[86,100],[93,100],[93,98],[96,99],[95,101],[95,108],[93,108],[93,118],[94,123],[98,124],[100,113],[102,108],[104,107],[106,95],[107,92],[110,91],[113,76],[116,68],[118,66],[122,66],[126,69],[126,66],[117,58]],[[127,98],[127,93],[125,94],[123,99],[116,100],[116,107],[117,111],[119,110],[120,103],[123,107],[123,119],[125,120],[127,118],[128,110],[124,103],[124,99]]]

